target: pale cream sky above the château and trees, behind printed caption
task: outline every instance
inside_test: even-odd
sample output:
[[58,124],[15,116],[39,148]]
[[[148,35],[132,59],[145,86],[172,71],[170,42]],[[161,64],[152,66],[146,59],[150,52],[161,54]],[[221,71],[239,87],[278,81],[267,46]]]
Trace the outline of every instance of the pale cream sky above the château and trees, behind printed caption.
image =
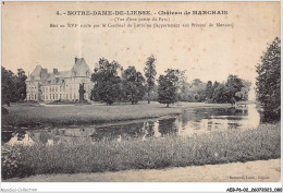
[[[148,10],[143,16],[57,15],[70,10]],[[159,11],[225,10],[226,15],[158,15]],[[159,24],[233,23],[232,27],[60,28],[50,24],[115,24],[127,17],[163,17]],[[143,71],[147,57],[157,58],[158,74],[186,70],[187,81],[226,80],[229,74],[255,83],[255,65],[268,44],[280,36],[280,2],[5,2],[2,4],[2,65],[30,73],[37,64],[71,70],[75,57],[90,69],[99,58]],[[126,22],[118,22],[126,23]],[[142,22],[144,23],[144,22]],[[133,24],[133,23],[132,23]]]

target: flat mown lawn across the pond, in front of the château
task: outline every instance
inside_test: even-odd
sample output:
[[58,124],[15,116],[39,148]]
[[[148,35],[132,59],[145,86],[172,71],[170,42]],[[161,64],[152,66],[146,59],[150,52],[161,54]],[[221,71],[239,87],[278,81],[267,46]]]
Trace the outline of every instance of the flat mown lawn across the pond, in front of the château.
[[62,126],[62,125],[82,125],[96,124],[104,122],[116,122],[125,120],[137,120],[157,118],[161,116],[181,113],[184,108],[189,107],[226,107],[231,105],[214,104],[189,104],[165,108],[158,102],[139,102],[137,105],[114,104],[107,106],[103,104],[87,106],[25,106],[12,105],[7,107],[9,114],[2,116],[2,125],[14,126]]

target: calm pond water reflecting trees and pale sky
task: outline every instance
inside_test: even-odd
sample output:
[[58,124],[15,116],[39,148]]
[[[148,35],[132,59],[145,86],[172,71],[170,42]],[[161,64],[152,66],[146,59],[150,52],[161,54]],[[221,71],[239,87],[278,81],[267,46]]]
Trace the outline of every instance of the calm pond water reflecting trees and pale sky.
[[2,132],[2,143],[9,145],[48,145],[73,143],[83,140],[89,143],[98,141],[125,141],[150,137],[189,136],[224,130],[257,129],[260,114],[255,105],[242,108],[187,108],[182,114],[161,117],[150,120],[119,122],[93,126],[73,126],[67,129],[20,130]]

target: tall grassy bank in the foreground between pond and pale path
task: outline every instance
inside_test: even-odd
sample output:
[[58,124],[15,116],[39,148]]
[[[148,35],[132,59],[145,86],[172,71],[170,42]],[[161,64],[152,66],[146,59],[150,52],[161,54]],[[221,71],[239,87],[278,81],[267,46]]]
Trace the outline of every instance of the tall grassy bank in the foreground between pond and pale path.
[[[256,130],[230,130],[146,142],[98,142],[90,145],[85,141],[76,141],[54,146],[37,144],[17,147],[21,156],[16,156],[17,167],[9,178],[271,159],[280,158],[280,123],[262,124]],[[2,166],[5,165],[2,162]],[[8,168],[2,167],[2,172],[8,172]]]

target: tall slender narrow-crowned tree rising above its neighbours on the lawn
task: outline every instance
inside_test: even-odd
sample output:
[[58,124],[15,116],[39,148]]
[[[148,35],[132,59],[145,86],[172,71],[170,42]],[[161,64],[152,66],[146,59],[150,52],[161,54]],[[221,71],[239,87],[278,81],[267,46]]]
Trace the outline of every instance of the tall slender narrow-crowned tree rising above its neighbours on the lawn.
[[144,69],[146,82],[147,82],[148,104],[150,104],[150,100],[151,100],[150,93],[153,89],[155,84],[156,84],[156,75],[157,75],[156,64],[155,64],[156,60],[157,59],[152,55],[150,57],[148,57],[147,62],[146,62],[146,67]]

